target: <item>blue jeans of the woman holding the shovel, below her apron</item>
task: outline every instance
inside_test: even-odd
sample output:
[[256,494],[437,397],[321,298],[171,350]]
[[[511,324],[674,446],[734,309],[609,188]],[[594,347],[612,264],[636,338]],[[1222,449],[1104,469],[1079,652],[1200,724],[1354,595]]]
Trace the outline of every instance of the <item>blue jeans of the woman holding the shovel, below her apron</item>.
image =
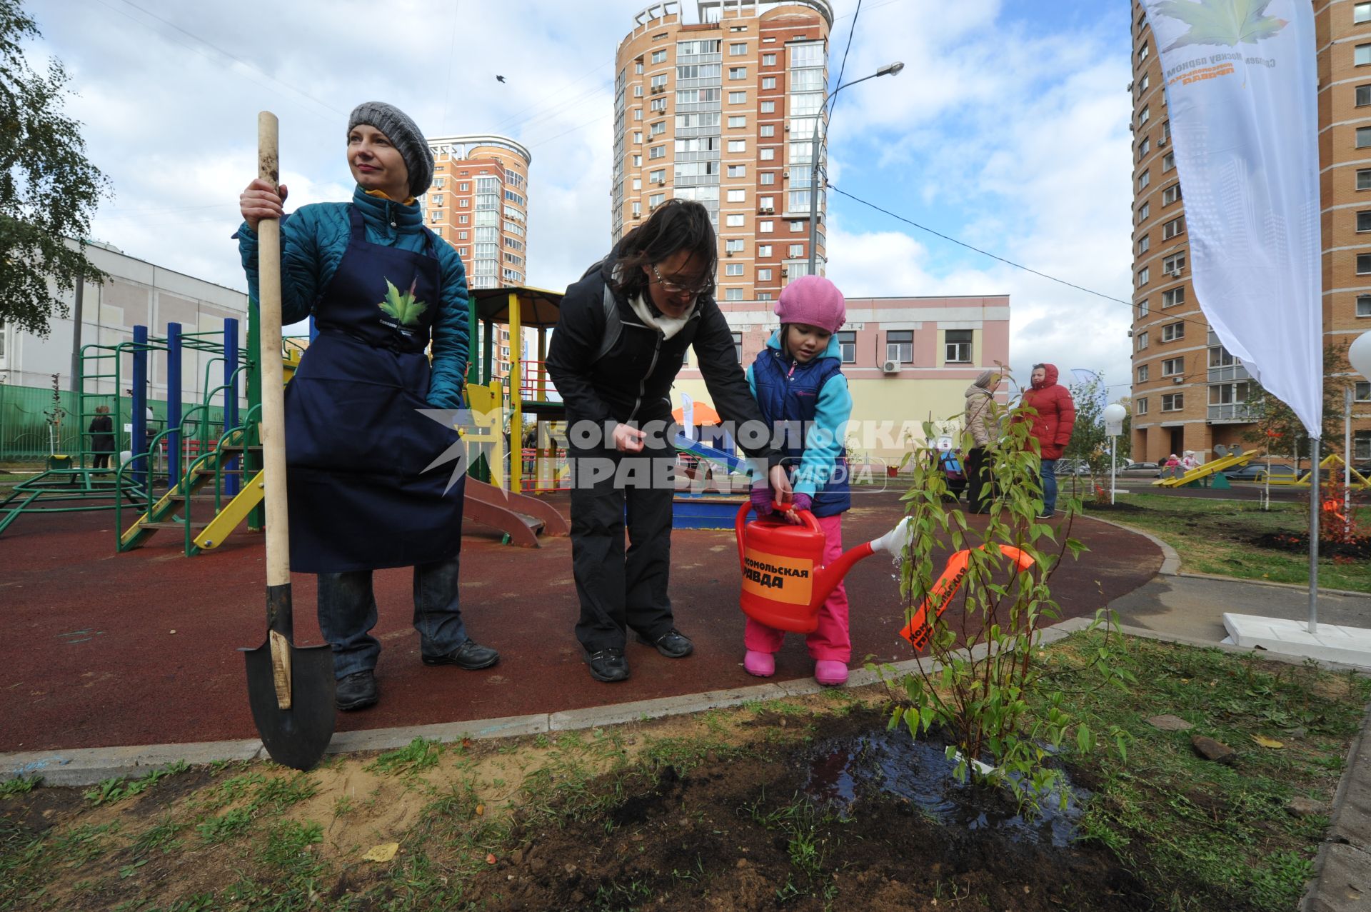
[[[443,656],[466,642],[457,577],[461,555],[414,568],[414,629],[425,656]],[[376,627],[376,595],[372,571],[319,573],[319,631],[333,645],[337,677],[373,671],[381,642]]]

